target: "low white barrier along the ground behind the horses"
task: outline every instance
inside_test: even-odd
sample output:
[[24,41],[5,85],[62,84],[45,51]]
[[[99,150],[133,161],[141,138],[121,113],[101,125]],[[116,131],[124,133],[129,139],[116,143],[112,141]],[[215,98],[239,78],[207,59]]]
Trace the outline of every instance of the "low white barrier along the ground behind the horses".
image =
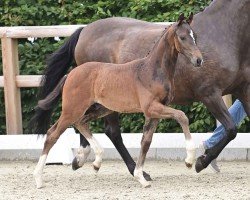
[[[121,159],[114,145],[105,134],[94,134],[104,148],[104,159]],[[211,133],[193,133],[196,147]],[[124,133],[122,138],[132,157],[139,155],[142,134]],[[43,148],[45,138],[37,135],[0,135],[0,160],[37,159]],[[76,148],[79,147],[79,135],[69,128],[52,148],[48,163],[71,163]],[[235,140],[223,150],[219,159],[250,160],[250,134],[239,133]],[[197,154],[201,153],[197,151]],[[185,139],[182,133],[155,133],[147,158],[183,160],[186,156]],[[94,154],[89,159],[93,159]]]

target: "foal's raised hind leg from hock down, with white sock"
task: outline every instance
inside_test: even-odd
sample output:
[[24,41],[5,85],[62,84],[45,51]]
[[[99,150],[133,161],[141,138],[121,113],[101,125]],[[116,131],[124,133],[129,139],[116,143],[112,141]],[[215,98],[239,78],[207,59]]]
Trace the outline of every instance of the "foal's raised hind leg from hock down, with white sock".
[[89,130],[88,124],[77,123],[75,127],[81,132],[81,134],[87,139],[91,148],[93,148],[95,153],[95,161],[93,162],[93,168],[96,172],[101,167],[102,156],[103,156],[103,148],[98,143],[98,141],[93,137],[92,133]]

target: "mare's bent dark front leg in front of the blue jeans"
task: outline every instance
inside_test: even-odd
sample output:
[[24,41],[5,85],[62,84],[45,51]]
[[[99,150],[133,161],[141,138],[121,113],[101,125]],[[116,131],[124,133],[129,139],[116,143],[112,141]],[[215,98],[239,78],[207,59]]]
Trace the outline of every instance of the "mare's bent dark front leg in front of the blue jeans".
[[197,173],[205,169],[212,160],[216,159],[224,147],[231,140],[233,140],[237,134],[236,125],[233,122],[233,119],[221,96],[208,96],[202,99],[202,102],[209,109],[209,111],[212,112],[214,117],[225,127],[226,134],[223,135],[222,139],[218,141],[216,145],[206,149],[205,153],[197,158],[195,164],[195,170]]

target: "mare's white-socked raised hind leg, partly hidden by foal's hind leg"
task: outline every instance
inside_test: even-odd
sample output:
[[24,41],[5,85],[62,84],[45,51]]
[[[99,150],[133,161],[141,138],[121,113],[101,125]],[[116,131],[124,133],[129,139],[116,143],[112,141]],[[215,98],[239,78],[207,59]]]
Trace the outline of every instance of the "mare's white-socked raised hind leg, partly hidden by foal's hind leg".
[[[81,123],[87,123],[91,120],[101,118],[105,115],[112,113],[113,111],[108,110],[100,104],[94,104],[91,106],[84,115]],[[88,140],[80,134],[80,148],[77,150],[76,156],[72,161],[72,169],[77,170],[83,166],[89,153],[90,153],[90,144]]]

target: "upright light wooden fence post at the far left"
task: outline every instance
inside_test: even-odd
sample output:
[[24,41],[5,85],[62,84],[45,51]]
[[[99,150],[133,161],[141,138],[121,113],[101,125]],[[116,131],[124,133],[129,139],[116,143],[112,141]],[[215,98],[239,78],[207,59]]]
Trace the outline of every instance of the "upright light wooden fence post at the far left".
[[20,88],[16,85],[16,75],[19,74],[18,43],[17,39],[6,36],[1,42],[7,134],[22,134]]

